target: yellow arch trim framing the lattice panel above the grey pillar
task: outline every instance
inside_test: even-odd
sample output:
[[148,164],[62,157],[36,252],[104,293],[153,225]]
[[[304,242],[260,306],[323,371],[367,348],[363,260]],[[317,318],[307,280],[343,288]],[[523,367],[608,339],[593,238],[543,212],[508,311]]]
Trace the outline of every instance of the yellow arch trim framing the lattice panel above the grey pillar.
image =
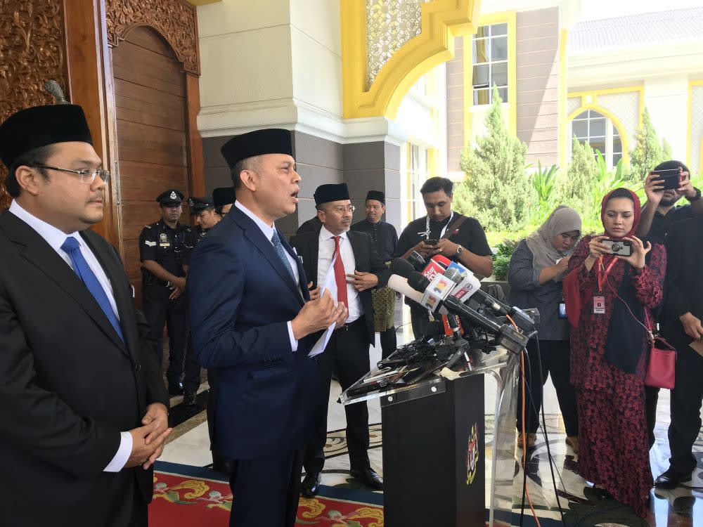
[[481,0],[433,0],[422,5],[422,31],[396,51],[366,90],[366,0],[341,0],[344,118],[394,119],[415,82],[454,58],[454,37],[476,31]]

